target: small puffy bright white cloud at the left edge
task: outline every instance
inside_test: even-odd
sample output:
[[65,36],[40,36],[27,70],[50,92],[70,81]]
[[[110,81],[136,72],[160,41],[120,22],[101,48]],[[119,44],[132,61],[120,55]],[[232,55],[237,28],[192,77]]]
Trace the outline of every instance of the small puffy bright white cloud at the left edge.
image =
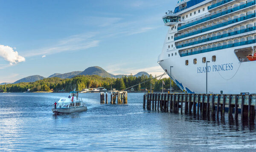
[[17,51],[14,51],[12,47],[4,45],[0,45],[0,57],[9,61],[10,65],[25,61],[25,58],[20,56]]

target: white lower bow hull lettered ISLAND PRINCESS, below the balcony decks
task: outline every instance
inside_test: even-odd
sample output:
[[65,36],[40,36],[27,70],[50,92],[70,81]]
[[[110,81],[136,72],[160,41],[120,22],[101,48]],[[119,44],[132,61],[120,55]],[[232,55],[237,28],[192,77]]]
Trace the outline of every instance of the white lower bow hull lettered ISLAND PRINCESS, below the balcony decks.
[[[159,64],[164,70],[167,70],[169,75],[170,66],[173,66],[172,80],[188,93],[217,94],[220,91],[226,94],[256,93],[256,61],[239,62],[234,53],[234,49],[237,48],[239,47],[186,57],[177,55],[177,57],[165,59]],[[206,63],[198,62],[185,66],[184,61],[192,61],[194,58],[202,59],[202,57],[211,60],[212,55],[216,54],[218,54],[216,61],[208,63],[206,92]],[[159,60],[163,59],[164,56],[167,57],[167,53],[161,54]],[[222,70],[220,66],[223,68]]]

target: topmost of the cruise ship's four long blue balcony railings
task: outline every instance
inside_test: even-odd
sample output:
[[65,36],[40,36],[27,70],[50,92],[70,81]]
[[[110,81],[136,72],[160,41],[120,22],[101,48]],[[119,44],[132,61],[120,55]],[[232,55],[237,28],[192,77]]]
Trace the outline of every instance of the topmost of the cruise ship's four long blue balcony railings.
[[228,9],[228,10],[226,10],[226,11],[222,11],[222,12],[220,12],[220,13],[211,15],[211,16],[209,16],[209,17],[205,17],[205,18],[203,18],[203,19],[201,19],[201,20],[197,20],[197,21],[195,21],[195,22],[188,23],[188,24],[186,24],[186,25],[183,25],[183,26],[178,27],[178,31],[179,31],[179,30],[182,30],[182,29],[185,29],[185,28],[187,28],[187,27],[190,27],[190,26],[194,26],[194,25],[199,24],[199,23],[203,23],[203,22],[205,22],[205,21],[207,21],[207,20],[212,20],[212,19],[214,19],[214,18],[221,17],[221,16],[226,15],[226,14],[230,14],[230,13],[232,13],[232,12],[234,12],[234,11],[238,11],[238,10],[240,10],[240,9],[244,9],[244,8],[246,8],[246,7],[249,7],[249,6],[253,6],[253,5],[255,5],[255,3],[256,3],[256,0],[253,0],[253,1],[251,1],[251,2],[242,4],[242,5],[240,5],[240,6],[236,6],[236,7],[232,8],[232,9]]

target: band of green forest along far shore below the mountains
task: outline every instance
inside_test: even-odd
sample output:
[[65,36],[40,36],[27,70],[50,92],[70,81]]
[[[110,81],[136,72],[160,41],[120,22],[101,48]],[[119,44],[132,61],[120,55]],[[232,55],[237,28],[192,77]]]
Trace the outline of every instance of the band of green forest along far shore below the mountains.
[[[147,80],[149,81],[146,83],[142,83]],[[142,75],[140,77],[129,75],[128,77],[123,76],[122,78],[100,77],[99,75],[78,75],[76,77],[67,79],[50,77],[35,82],[0,85],[0,90],[6,90],[6,92],[26,92],[27,89],[30,89],[31,92],[37,92],[49,91],[50,89],[53,89],[54,92],[70,92],[74,89],[76,89],[76,91],[81,91],[82,89],[97,87],[105,87],[106,89],[110,90],[111,86],[116,90],[122,90],[141,83],[140,85],[135,86],[134,89],[150,89],[150,85],[152,85],[152,89],[154,91],[161,91],[162,80],[164,80],[165,82],[164,88],[169,89],[170,78],[163,78],[161,80],[157,80],[156,78],[153,78],[152,75],[149,75],[149,77],[146,75]],[[172,88],[174,88],[175,90],[179,90],[178,86],[173,81]]]

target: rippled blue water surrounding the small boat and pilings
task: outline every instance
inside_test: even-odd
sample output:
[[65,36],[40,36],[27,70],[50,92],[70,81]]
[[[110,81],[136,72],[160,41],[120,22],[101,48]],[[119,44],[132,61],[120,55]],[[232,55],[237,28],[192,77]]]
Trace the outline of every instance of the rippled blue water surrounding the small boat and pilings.
[[129,93],[127,105],[80,94],[87,112],[52,115],[52,103],[63,96],[68,93],[0,94],[1,152],[256,151],[254,123],[150,112],[140,93]]

